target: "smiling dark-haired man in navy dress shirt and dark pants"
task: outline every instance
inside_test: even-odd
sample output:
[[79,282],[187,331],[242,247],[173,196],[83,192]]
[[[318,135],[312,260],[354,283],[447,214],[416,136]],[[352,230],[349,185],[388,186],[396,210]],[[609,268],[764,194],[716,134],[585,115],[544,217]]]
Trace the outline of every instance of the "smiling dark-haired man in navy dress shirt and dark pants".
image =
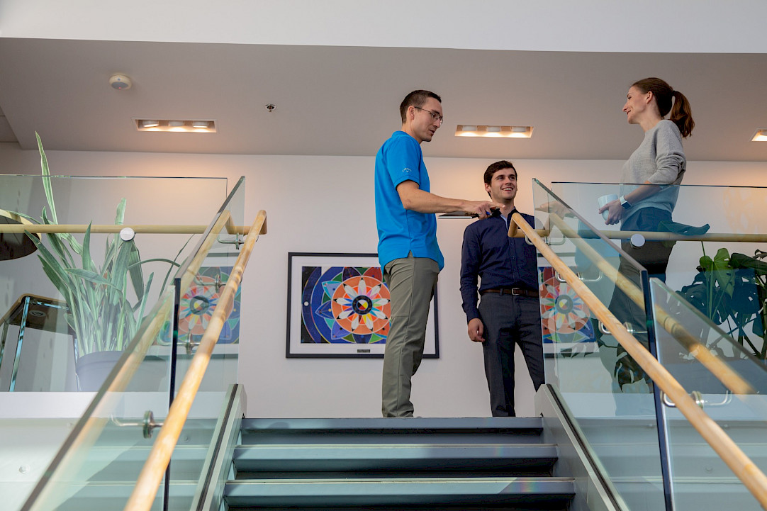
[[[485,171],[485,190],[499,212],[475,222],[463,233],[461,295],[469,322],[469,339],[482,343],[493,417],[515,417],[514,349],[525,356],[535,390],[544,382],[541,308],[535,247],[524,238],[509,238],[517,212],[517,171],[509,161]],[[535,219],[522,216],[531,225]],[[477,307],[478,277],[481,301]]]

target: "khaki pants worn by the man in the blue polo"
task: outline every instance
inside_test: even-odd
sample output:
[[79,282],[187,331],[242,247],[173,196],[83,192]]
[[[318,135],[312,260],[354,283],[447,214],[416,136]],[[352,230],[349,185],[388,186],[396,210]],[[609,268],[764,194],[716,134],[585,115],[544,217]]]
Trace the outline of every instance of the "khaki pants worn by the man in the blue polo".
[[412,254],[394,259],[384,267],[384,281],[391,297],[381,385],[384,417],[413,417],[410,378],[423,357],[426,321],[438,276],[436,261]]

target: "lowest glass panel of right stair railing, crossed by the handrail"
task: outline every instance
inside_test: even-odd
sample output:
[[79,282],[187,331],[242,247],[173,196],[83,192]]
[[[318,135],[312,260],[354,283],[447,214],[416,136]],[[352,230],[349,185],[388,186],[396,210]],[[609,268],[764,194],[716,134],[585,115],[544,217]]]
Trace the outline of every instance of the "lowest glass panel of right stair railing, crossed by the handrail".
[[[767,367],[667,285],[650,288],[658,357],[703,411],[767,471]],[[663,406],[674,509],[759,509],[759,503],[675,407]],[[715,490],[714,490],[715,489]]]

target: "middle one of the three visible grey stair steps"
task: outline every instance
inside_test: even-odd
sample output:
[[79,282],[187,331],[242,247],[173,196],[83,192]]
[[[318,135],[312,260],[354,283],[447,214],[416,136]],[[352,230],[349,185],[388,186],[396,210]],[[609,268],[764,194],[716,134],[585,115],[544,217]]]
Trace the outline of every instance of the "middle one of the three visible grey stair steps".
[[493,444],[301,444],[237,447],[238,472],[377,470],[525,470],[551,469],[557,447],[544,443]]

